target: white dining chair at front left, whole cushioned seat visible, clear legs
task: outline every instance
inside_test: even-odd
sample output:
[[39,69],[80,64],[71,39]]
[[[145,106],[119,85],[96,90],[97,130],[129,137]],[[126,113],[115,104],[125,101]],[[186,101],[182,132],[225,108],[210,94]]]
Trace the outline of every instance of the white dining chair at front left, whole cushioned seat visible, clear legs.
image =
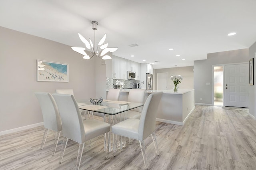
[[[73,95],[57,93],[52,95],[58,105],[64,137],[59,163],[62,162],[68,139],[71,139],[79,143],[76,159],[76,169],[79,169],[85,142],[102,134],[104,134],[106,138],[107,133],[110,131],[110,124],[92,119],[83,121],[78,104]],[[106,145],[106,143],[104,143],[104,145]]]

